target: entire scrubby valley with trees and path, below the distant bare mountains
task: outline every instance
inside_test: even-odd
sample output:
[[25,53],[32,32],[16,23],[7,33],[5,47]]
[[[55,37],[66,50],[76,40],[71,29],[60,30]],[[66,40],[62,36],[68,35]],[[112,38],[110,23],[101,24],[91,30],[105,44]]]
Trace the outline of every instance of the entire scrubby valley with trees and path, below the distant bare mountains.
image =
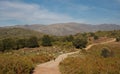
[[0,30],[1,74],[119,74],[120,30],[65,36],[23,28]]

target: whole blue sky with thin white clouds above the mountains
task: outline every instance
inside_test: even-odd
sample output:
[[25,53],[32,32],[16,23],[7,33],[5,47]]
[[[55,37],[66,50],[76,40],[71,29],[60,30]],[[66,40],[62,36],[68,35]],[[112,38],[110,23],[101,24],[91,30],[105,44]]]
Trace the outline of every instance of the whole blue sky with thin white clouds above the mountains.
[[120,24],[120,0],[0,0],[0,26]]

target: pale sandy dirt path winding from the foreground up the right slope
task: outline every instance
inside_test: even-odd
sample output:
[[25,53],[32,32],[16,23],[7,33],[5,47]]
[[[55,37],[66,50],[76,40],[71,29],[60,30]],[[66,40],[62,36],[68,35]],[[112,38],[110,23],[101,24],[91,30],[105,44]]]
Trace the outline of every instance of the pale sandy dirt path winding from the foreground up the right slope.
[[[110,41],[106,41],[106,42],[102,42],[102,43],[95,43],[95,44],[91,44],[89,46],[87,46],[85,49],[88,50],[90,49],[92,46],[94,45],[98,45],[98,44],[106,44],[106,43],[110,43],[110,42],[114,42],[115,39],[112,39]],[[43,63],[43,64],[40,64],[40,65],[37,65],[37,67],[35,68],[34,70],[34,73],[33,74],[61,74],[60,71],[59,71],[59,63],[67,58],[68,55],[71,55],[71,54],[74,54],[74,53],[78,53],[79,51],[76,51],[76,52],[71,52],[71,53],[65,53],[65,54],[62,54],[60,56],[58,56],[55,61],[52,60],[52,61],[49,61],[47,63]]]

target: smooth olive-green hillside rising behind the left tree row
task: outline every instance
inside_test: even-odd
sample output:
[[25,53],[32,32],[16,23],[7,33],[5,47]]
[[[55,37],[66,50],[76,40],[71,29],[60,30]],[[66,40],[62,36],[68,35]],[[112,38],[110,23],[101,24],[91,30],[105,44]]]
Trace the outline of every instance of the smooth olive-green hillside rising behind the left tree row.
[[0,28],[0,39],[2,38],[26,38],[30,36],[43,36],[42,33],[23,28]]

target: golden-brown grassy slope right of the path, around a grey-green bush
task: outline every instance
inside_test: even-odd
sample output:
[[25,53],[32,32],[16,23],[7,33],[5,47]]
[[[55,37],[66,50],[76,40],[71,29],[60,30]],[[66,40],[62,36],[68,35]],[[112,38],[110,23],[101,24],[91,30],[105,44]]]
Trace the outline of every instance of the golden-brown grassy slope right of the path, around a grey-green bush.
[[[103,48],[112,52],[110,57],[101,56]],[[96,45],[87,53],[72,55],[61,62],[62,74],[119,74],[120,43]]]

